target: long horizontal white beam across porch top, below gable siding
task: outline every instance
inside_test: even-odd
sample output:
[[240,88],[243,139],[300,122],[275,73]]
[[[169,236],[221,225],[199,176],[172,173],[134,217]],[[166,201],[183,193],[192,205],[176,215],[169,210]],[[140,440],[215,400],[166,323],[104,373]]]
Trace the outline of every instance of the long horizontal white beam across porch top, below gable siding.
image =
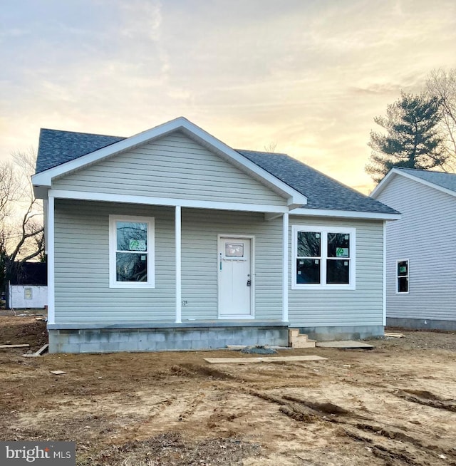
[[49,195],[59,199],[88,200],[102,202],[122,202],[125,204],[167,205],[193,207],[195,209],[239,210],[244,212],[288,212],[288,207],[269,204],[241,204],[237,202],[217,202],[207,200],[188,200],[170,197],[115,195],[103,192],[83,192],[68,190],[49,190]]

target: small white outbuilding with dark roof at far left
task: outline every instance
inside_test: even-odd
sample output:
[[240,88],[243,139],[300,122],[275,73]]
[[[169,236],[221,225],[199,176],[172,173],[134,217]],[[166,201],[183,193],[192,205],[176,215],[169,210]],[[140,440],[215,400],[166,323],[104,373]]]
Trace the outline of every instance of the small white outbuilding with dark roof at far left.
[[11,309],[43,309],[48,304],[47,265],[16,262],[8,284]]

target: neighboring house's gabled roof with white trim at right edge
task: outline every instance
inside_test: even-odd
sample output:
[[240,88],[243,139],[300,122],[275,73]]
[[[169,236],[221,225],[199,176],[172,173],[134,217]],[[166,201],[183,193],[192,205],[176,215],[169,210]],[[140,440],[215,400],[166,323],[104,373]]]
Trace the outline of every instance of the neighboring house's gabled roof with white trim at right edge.
[[435,190],[446,192],[449,195],[456,196],[456,174],[445,172],[433,172],[431,170],[415,170],[413,168],[394,167],[388,174],[378,183],[375,190],[371,192],[371,197],[374,199],[380,195],[385,187],[396,176],[403,176],[415,180],[423,185],[433,187]]

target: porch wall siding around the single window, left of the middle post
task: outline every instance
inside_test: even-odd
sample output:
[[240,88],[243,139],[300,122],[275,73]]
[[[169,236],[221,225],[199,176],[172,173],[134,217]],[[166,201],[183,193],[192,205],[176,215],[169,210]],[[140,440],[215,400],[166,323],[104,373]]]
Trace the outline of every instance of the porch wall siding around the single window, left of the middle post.
[[[56,323],[174,319],[172,209],[56,200],[55,211]],[[155,217],[155,289],[109,288],[109,214]]]

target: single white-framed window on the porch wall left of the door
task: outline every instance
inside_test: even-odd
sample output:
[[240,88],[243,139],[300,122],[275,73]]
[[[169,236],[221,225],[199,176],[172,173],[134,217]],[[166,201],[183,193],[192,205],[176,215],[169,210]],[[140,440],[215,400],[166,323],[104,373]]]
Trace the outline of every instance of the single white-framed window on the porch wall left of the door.
[[155,286],[153,217],[109,216],[111,288]]

